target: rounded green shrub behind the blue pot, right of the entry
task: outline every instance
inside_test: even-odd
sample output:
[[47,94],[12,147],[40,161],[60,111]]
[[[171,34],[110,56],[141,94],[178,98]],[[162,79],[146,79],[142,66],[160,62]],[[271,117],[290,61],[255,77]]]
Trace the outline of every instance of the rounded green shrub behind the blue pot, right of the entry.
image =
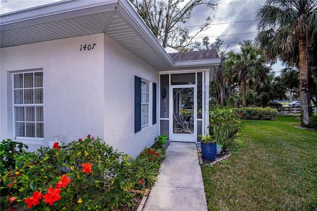
[[209,133],[213,135],[213,127],[228,129],[228,138],[233,138],[241,129],[239,114],[231,108],[216,108],[209,112]]

